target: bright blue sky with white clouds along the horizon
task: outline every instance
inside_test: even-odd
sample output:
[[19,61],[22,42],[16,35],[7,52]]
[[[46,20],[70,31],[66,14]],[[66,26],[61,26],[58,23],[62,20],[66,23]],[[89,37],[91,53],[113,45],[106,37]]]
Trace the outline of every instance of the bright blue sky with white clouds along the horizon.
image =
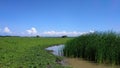
[[0,35],[120,31],[120,0],[0,0]]

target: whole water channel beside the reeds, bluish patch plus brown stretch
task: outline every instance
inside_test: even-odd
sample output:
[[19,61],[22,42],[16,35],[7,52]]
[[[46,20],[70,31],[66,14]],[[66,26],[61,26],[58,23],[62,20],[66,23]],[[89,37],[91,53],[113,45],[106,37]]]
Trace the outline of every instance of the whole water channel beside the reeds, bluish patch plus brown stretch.
[[[63,48],[64,45],[55,45],[46,48],[46,50],[51,50],[52,54],[56,56],[63,56]],[[120,68],[120,66],[96,64],[79,58],[64,58],[62,62],[72,68]]]

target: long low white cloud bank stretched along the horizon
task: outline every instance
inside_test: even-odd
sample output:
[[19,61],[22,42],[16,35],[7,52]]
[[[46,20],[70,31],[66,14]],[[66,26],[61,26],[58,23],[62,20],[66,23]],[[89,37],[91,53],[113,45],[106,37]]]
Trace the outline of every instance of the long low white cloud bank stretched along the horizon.
[[50,35],[50,36],[62,36],[62,35],[68,35],[68,36],[79,36],[87,33],[94,33],[93,30],[90,30],[89,32],[77,32],[77,31],[72,31],[72,32],[67,32],[67,31],[46,31],[43,32],[44,35]]

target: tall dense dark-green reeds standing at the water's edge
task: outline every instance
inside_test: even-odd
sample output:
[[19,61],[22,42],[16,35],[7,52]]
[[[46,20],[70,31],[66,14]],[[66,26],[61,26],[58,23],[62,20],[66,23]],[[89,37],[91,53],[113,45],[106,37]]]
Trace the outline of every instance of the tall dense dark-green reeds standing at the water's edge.
[[120,34],[95,32],[81,35],[66,43],[64,55],[97,63],[120,64]]

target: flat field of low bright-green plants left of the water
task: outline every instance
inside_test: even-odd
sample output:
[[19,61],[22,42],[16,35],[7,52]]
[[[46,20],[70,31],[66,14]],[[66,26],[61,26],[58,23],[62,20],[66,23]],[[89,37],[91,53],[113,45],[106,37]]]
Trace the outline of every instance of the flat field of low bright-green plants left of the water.
[[64,68],[45,48],[70,38],[0,37],[0,68]]

